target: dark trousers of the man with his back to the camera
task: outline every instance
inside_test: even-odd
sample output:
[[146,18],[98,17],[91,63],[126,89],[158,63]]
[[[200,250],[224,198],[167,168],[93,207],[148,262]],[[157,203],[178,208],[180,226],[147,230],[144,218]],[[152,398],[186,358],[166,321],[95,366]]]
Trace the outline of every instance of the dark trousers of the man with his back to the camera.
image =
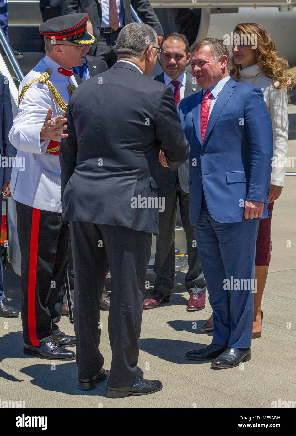
[[112,362],[108,387],[132,385],[137,377],[142,300],[151,254],[151,233],[89,222],[70,222],[74,264],[74,328],[78,377],[89,379],[103,366],[99,351],[100,299],[108,272],[112,298],[108,330]]

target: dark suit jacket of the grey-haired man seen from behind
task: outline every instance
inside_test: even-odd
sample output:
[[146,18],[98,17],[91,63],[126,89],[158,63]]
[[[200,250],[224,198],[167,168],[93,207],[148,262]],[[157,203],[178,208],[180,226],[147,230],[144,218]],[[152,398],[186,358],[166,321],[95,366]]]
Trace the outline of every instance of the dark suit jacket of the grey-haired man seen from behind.
[[171,170],[189,154],[172,90],[126,62],[100,77],[75,89],[65,114],[62,220],[158,233],[159,150]]

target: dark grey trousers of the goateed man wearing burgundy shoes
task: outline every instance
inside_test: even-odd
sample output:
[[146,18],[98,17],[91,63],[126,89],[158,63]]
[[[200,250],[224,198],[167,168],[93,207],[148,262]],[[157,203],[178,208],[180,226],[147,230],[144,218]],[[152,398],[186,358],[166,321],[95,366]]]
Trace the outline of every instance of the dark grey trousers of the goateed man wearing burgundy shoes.
[[[177,200],[182,218],[182,225],[187,239],[188,272],[185,276],[186,290],[191,293],[205,293],[206,282],[200,263],[200,256],[196,247],[194,227],[189,221],[189,194],[180,186],[177,176],[173,192],[168,194],[158,193],[165,198],[165,210],[158,212],[158,236],[156,241],[154,272],[157,274],[154,290],[171,295],[175,282],[175,228]],[[195,244],[196,245],[196,244]]]

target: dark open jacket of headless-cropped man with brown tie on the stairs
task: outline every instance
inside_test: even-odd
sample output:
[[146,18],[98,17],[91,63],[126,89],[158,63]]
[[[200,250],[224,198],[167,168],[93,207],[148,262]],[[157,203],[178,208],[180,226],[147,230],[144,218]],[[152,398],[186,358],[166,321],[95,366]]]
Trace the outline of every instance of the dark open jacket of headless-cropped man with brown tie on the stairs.
[[[151,7],[148,0],[121,0],[124,26],[132,23],[131,5],[138,13],[141,20],[153,27],[158,35],[163,35],[162,25]],[[73,12],[85,12],[93,24],[93,34],[98,39],[102,23],[102,7],[98,0],[63,0],[61,14],[67,15]]]

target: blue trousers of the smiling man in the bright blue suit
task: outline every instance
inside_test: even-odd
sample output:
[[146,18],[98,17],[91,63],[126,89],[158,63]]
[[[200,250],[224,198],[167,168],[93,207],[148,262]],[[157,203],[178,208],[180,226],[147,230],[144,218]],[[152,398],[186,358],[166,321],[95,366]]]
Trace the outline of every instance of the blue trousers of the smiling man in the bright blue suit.
[[258,223],[244,217],[237,223],[214,221],[203,196],[194,232],[213,309],[213,344],[251,346]]

